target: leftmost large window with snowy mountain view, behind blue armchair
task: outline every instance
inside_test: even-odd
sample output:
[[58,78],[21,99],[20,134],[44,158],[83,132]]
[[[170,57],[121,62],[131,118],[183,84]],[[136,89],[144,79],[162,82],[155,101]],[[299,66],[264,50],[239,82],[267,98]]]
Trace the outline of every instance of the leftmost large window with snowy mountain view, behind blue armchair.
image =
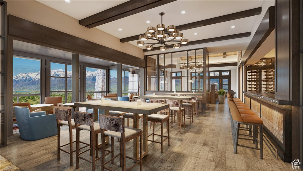
[[13,57],[13,102],[40,103],[40,63],[39,59]]

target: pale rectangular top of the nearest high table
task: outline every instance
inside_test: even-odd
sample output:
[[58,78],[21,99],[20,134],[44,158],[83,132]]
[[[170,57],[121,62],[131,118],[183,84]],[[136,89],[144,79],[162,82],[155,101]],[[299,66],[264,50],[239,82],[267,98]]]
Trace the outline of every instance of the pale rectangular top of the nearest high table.
[[169,107],[168,104],[160,104],[160,103],[141,103],[141,105],[137,105],[136,102],[112,101],[112,100],[105,100],[105,102],[101,102],[101,100],[94,100],[94,101],[91,100],[86,102],[77,102],[74,103],[74,105],[77,107],[115,110],[122,112],[140,113],[145,115],[151,115],[153,113],[159,112]]

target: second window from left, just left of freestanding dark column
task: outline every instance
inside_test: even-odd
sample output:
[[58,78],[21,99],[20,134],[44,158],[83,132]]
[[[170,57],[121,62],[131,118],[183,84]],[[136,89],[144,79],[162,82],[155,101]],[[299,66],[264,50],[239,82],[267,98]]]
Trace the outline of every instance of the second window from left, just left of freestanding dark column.
[[72,65],[51,62],[51,96],[61,96],[63,103],[72,100]]

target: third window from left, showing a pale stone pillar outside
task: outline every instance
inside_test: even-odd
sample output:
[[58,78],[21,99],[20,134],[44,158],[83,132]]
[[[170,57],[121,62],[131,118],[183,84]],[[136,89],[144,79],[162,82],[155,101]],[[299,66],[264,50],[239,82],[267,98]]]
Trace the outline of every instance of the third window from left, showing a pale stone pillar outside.
[[86,67],[85,77],[86,96],[91,95],[93,99],[105,96],[106,92],[106,70]]

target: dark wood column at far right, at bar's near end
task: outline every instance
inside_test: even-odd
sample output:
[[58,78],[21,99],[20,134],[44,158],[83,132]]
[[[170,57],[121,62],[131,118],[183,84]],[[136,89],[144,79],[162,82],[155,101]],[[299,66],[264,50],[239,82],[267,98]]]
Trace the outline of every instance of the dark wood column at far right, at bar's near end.
[[276,0],[275,12],[275,98],[291,100],[291,162],[300,149],[300,1]]

